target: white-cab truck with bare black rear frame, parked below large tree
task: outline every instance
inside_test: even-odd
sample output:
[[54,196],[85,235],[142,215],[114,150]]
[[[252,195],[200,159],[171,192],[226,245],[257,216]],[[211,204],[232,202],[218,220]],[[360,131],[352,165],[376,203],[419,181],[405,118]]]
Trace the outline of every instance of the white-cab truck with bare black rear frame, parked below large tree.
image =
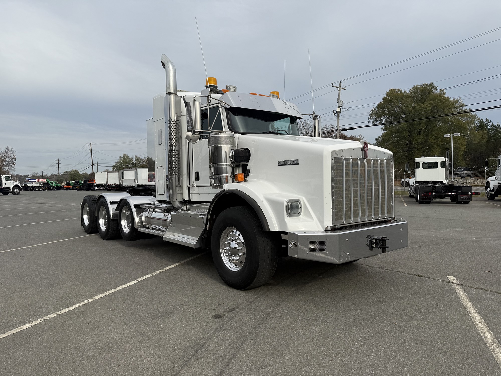
[[[409,179],[409,197],[415,197],[419,204],[445,198],[456,204],[469,204],[472,195],[480,195],[480,192],[473,192],[470,185],[449,184],[445,178],[445,164],[445,158],[436,155],[415,158],[414,179]],[[405,169],[409,169],[408,164]]]

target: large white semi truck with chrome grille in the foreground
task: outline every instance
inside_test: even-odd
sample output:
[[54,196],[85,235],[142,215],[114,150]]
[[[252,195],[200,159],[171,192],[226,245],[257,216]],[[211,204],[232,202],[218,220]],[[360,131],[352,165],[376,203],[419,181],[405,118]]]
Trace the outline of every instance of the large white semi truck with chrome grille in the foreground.
[[161,63],[166,91],[147,121],[156,195],[84,197],[85,232],[210,249],[237,289],[267,282],[283,254],[341,264],[407,247],[390,151],[320,138],[319,121],[313,137],[300,136],[303,116],[278,92],[219,90],[214,78],[201,92],[178,91],[174,65]]

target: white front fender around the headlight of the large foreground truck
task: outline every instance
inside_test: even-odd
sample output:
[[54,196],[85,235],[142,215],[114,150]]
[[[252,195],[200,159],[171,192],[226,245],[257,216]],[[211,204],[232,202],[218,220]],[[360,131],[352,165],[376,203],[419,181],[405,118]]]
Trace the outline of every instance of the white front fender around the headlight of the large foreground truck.
[[[315,231],[325,226],[312,210],[305,197],[292,193],[280,192],[276,185],[266,181],[248,181],[246,183],[225,184],[224,189],[240,191],[253,199],[263,211],[270,231]],[[288,200],[301,201],[301,215],[288,217],[286,204]]]

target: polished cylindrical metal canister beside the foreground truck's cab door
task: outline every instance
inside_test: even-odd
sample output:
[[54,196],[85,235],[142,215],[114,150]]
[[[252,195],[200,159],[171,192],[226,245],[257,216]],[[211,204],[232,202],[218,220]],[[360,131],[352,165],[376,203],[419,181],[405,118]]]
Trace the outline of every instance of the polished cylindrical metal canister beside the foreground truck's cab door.
[[229,152],[235,148],[235,135],[214,132],[209,135],[209,179],[212,188],[233,182]]

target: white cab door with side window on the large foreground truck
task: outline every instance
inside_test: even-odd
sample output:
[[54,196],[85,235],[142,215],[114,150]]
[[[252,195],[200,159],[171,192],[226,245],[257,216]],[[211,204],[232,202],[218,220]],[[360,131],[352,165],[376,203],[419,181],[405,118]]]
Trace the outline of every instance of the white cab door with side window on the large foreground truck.
[[[201,108],[202,130],[222,131],[223,116],[219,104]],[[209,187],[209,140],[207,132],[200,132],[200,139],[190,144],[190,181],[192,187]],[[192,190],[196,194],[198,191]],[[215,193],[215,192],[214,192]]]

